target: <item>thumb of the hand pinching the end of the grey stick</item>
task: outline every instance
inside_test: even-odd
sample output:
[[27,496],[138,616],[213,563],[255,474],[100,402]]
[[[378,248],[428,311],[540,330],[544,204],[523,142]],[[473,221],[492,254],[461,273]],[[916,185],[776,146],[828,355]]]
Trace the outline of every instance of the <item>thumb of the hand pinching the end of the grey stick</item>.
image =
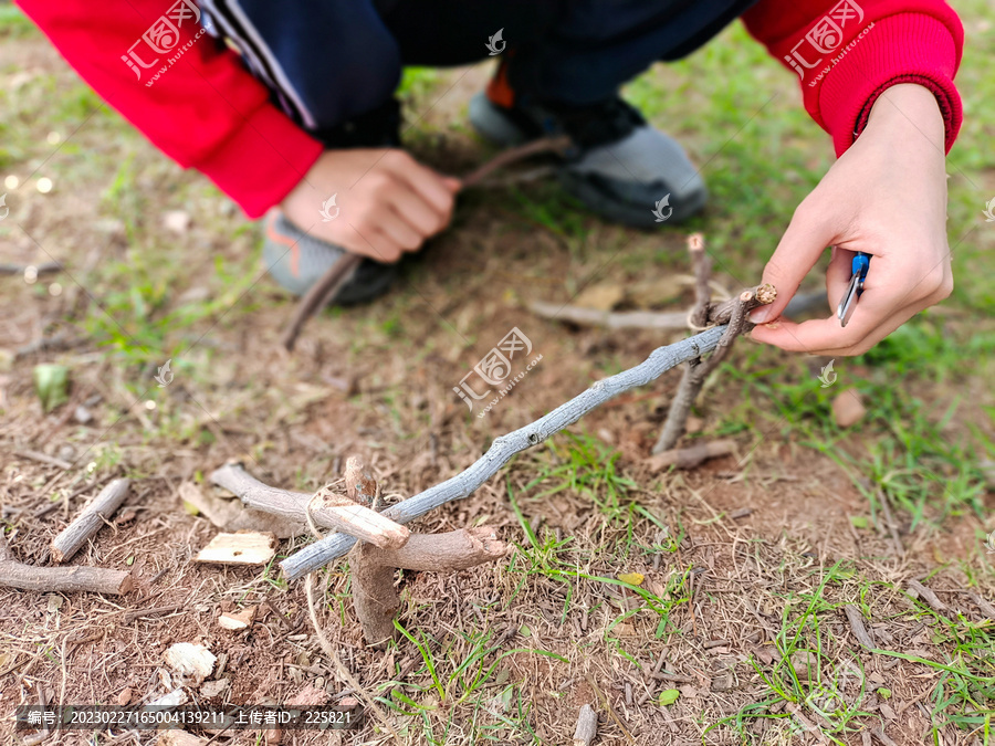
[[777,318],[834,240],[825,212],[805,203],[799,206],[764,267],[764,282],[774,285],[777,298],[768,306],[756,308],[750,314],[750,321],[764,324]]

